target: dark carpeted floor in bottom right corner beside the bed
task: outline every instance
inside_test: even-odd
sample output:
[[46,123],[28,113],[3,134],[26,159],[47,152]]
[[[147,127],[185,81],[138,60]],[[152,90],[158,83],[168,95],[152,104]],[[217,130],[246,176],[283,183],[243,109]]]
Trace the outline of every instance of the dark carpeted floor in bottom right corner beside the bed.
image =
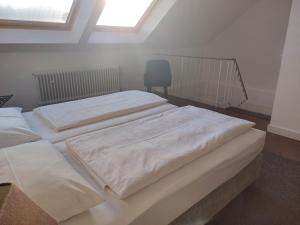
[[265,152],[260,178],[208,225],[300,225],[300,162]]

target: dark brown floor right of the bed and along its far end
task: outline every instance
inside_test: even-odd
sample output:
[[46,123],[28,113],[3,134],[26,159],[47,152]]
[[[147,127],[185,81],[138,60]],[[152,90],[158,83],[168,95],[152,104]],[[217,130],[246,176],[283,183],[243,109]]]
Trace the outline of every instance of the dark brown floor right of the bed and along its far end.
[[[255,128],[264,131],[270,122],[267,116],[246,111],[216,109],[174,97],[170,97],[170,102],[178,106],[200,106],[247,119],[256,123]],[[263,154],[260,178],[208,225],[300,225],[300,142],[267,133]]]

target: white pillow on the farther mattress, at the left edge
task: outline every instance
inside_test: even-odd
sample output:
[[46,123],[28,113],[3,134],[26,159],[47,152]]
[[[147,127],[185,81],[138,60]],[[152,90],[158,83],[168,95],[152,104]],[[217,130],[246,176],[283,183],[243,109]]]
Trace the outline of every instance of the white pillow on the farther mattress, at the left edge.
[[24,120],[21,108],[0,108],[0,148],[41,139]]

